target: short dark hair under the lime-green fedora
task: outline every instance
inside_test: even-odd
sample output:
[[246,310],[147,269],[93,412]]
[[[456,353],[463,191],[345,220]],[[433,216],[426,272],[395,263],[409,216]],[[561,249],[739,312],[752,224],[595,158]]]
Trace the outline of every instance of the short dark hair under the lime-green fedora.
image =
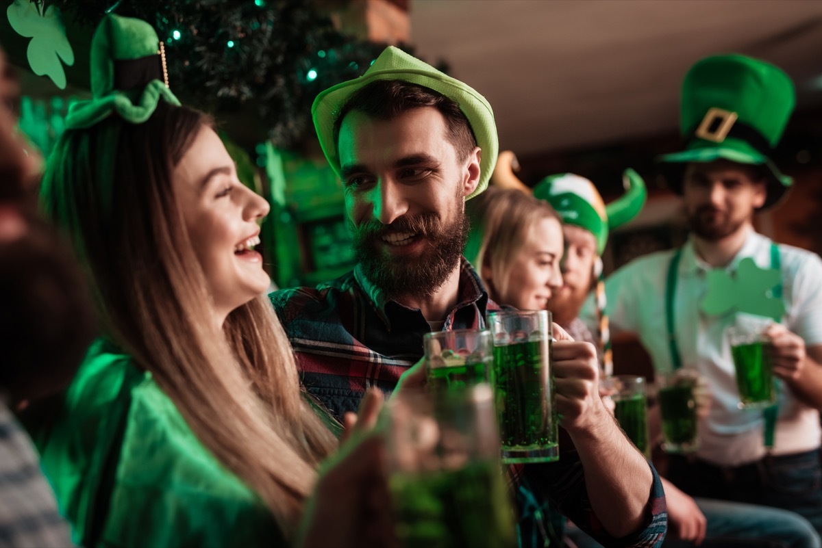
[[339,109],[334,121],[334,143],[339,148],[339,127],[349,112],[363,112],[376,120],[393,120],[418,108],[434,107],[446,119],[448,139],[462,162],[477,146],[477,139],[456,101],[433,89],[404,80],[376,80],[358,89]]

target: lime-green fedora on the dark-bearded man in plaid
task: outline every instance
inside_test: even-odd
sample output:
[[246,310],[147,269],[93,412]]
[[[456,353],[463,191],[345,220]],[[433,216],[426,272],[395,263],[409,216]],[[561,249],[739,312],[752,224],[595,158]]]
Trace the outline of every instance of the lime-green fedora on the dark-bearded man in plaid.
[[459,109],[468,118],[478,147],[483,150],[479,164],[482,171],[479,184],[466,199],[471,199],[483,192],[494,171],[496,154],[499,149],[496,122],[491,105],[488,104],[486,98],[469,85],[437,71],[433,66],[394,46],[384,49],[374,64],[359,78],[332,86],[314,99],[311,113],[316,135],[320,139],[322,152],[337,176],[339,176],[339,152],[334,139],[336,117],[354,93],[376,80],[404,80],[411,84],[418,84],[445,95],[459,105]]

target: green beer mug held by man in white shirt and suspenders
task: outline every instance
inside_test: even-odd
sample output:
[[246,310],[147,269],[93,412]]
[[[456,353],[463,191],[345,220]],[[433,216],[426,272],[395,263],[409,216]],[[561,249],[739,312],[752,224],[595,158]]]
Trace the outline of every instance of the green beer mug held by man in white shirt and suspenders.
[[737,373],[740,409],[763,409],[776,402],[768,345],[762,331],[729,327],[733,366]]

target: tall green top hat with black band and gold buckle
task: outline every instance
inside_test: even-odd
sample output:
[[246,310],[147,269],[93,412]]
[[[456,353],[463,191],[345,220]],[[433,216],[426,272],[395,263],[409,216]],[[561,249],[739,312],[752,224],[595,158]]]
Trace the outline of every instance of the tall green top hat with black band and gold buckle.
[[763,166],[768,198],[778,203],[792,179],[769,158],[782,138],[796,97],[791,79],[777,66],[743,55],[707,57],[682,83],[680,130],[686,149],[658,158],[668,186],[681,194],[689,162]]

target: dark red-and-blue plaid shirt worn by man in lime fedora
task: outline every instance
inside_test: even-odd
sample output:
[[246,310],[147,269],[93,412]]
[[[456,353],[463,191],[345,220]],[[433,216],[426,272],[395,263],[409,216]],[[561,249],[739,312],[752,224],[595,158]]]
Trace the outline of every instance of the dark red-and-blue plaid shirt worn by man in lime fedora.
[[[371,386],[390,394],[400,375],[423,357],[423,335],[431,331],[418,309],[386,299],[359,266],[316,288],[275,291],[270,299],[297,355],[303,386],[337,418],[347,411],[356,412]],[[448,313],[443,331],[485,327],[485,314],[499,309],[488,299],[477,272],[462,259],[457,304]],[[667,513],[662,483],[653,466],[644,527],[630,537],[613,539],[593,514],[582,464],[567,436],[561,436],[560,453],[556,463],[510,468],[520,510],[520,546],[559,544],[562,533],[554,528],[557,522],[552,519],[551,506],[603,546],[655,548],[662,544]]]

